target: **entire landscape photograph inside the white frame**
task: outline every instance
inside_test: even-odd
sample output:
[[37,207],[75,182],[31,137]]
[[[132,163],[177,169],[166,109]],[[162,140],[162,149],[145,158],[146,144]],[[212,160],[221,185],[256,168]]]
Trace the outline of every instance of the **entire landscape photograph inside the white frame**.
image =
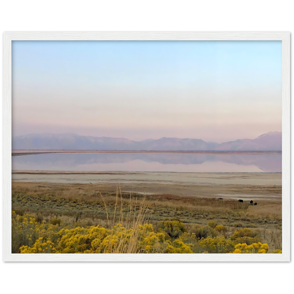
[[282,60],[278,39],[12,40],[11,254],[281,254]]

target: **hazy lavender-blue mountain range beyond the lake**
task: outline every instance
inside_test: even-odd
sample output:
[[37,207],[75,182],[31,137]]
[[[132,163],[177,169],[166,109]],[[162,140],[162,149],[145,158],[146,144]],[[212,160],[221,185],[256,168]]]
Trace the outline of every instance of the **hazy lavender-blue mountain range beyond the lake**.
[[12,149],[26,150],[168,150],[168,151],[280,151],[282,132],[268,132],[255,139],[224,143],[201,139],[160,138],[132,141],[125,138],[65,134],[28,134],[12,138]]

